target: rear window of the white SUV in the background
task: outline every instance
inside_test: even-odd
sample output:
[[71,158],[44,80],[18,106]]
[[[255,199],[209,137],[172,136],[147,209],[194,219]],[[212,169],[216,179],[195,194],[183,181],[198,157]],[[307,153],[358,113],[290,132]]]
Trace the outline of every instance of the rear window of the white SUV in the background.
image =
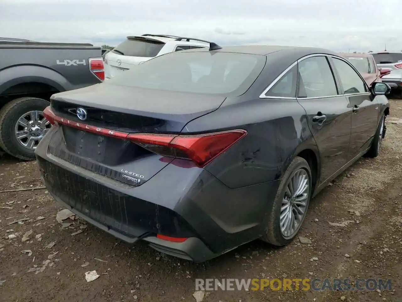
[[162,47],[163,42],[146,39],[127,39],[117,45],[112,52],[123,56],[153,58]]

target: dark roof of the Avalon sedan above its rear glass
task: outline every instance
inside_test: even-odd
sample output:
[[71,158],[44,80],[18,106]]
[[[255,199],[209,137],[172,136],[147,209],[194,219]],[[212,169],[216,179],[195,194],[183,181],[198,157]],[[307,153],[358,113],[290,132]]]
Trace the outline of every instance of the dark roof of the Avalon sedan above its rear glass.
[[[208,51],[208,49],[192,49],[192,50],[184,50],[183,52],[200,52],[200,51]],[[214,52],[232,52],[232,53],[240,53],[240,54],[255,54],[261,56],[267,56],[272,53],[281,52],[283,55],[289,56],[298,56],[300,58],[303,56],[307,56],[309,54],[331,54],[335,56],[339,56],[336,52],[332,52],[331,50],[326,50],[323,48],[315,48],[315,47],[299,47],[299,46],[270,46],[270,45],[239,45],[239,46],[225,46],[218,50],[213,50]]]

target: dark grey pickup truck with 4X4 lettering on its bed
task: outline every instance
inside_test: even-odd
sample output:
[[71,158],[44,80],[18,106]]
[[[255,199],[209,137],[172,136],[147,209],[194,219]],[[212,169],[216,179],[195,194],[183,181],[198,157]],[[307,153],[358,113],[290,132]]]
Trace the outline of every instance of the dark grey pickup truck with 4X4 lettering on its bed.
[[0,38],[0,149],[35,159],[51,127],[43,116],[50,96],[104,79],[100,47]]

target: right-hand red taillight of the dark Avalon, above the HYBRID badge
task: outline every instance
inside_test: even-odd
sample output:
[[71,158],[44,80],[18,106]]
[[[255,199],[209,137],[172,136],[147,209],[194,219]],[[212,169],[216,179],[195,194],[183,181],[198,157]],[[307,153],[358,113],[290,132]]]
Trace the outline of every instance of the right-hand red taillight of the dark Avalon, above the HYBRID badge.
[[127,139],[154,153],[192,160],[204,167],[247,134],[230,130],[199,135],[133,133]]

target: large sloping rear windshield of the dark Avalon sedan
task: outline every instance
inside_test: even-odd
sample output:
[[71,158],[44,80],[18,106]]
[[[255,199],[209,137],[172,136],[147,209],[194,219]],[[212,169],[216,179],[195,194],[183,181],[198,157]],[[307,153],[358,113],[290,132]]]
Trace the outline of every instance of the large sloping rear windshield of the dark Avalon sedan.
[[[228,52],[172,52],[107,81],[168,91],[242,95],[265,66],[265,56]],[[106,82],[105,82],[106,83]]]

